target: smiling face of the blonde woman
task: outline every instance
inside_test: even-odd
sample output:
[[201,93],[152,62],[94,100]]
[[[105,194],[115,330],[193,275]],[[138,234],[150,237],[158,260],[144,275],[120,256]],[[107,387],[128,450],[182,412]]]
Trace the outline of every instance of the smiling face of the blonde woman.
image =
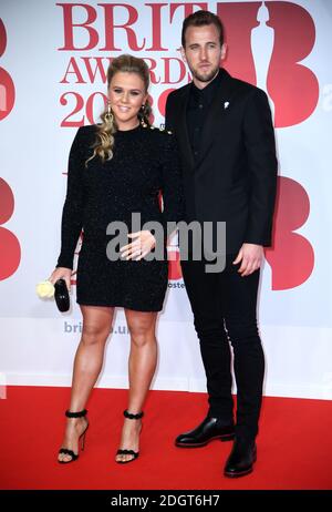
[[137,114],[147,94],[139,74],[118,71],[111,80],[108,99],[120,130],[137,125]]

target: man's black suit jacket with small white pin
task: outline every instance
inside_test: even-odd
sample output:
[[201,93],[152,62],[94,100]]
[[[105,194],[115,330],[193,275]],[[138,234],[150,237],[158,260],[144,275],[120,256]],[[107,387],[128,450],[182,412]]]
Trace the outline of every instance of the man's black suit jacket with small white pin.
[[278,164],[267,94],[224,69],[216,80],[199,160],[186,122],[191,84],[168,95],[166,129],[179,146],[186,219],[226,222],[226,253],[234,254],[245,242],[271,245]]

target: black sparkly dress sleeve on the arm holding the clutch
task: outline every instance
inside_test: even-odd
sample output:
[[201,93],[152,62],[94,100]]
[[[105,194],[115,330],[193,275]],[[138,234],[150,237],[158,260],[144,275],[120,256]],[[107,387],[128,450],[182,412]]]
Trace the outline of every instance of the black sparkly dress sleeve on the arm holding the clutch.
[[74,252],[83,224],[83,170],[84,153],[80,127],[69,155],[66,196],[61,221],[61,252],[55,267],[73,268]]

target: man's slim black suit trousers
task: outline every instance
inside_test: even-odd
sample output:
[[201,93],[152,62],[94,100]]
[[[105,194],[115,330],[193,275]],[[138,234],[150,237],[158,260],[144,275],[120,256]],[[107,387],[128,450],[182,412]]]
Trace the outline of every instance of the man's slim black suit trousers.
[[[208,414],[234,421],[231,351],[237,383],[236,434],[253,439],[258,433],[264,375],[264,356],[257,328],[257,290],[260,270],[241,277],[227,255],[221,273],[208,274],[210,262],[181,262],[195,329],[207,377]],[[230,341],[230,344],[229,344]]]

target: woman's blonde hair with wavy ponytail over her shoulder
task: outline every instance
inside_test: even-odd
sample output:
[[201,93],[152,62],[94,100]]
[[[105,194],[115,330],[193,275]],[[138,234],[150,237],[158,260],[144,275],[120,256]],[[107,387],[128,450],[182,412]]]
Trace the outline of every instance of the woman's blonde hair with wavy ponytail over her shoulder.
[[[107,90],[113,76],[118,72],[137,73],[144,82],[145,92],[147,92],[149,85],[149,72],[148,66],[143,59],[138,59],[137,57],[128,54],[123,54],[113,59],[107,70]],[[152,107],[148,103],[148,100],[146,100],[144,109],[141,109],[138,112],[139,122],[144,122],[145,124],[149,125],[148,117],[151,113]],[[93,154],[90,158],[86,160],[85,166],[87,162],[93,160],[95,156],[100,156],[103,162],[113,157],[116,122],[113,114],[110,112],[110,107],[105,109],[101,114],[101,120],[102,123],[96,129],[96,141],[92,146]]]

